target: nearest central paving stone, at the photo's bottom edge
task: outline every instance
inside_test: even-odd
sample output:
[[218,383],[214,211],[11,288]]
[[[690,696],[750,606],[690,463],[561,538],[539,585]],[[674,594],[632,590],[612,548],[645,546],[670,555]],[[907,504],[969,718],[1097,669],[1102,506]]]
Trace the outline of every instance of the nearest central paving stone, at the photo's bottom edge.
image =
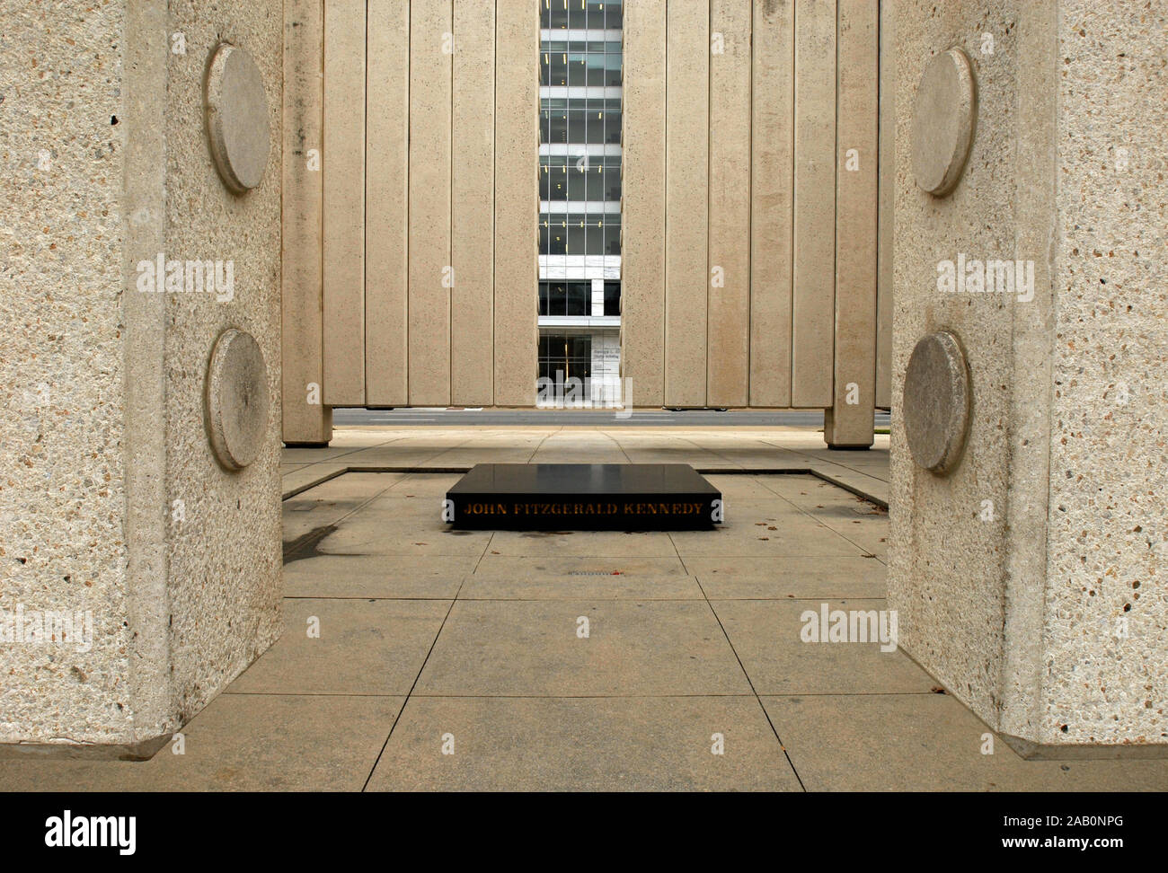
[[[723,735],[715,755],[712,735]],[[453,738],[444,755],[443,736]],[[447,746],[449,748],[449,746]],[[753,697],[411,697],[374,791],[798,791]]]

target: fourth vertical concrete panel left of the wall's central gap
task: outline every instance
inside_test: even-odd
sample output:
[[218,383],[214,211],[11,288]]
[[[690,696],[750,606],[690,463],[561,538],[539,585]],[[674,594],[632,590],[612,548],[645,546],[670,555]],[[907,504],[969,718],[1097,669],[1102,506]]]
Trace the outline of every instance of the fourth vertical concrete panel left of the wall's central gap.
[[410,11],[368,2],[366,92],[366,400],[408,401]]

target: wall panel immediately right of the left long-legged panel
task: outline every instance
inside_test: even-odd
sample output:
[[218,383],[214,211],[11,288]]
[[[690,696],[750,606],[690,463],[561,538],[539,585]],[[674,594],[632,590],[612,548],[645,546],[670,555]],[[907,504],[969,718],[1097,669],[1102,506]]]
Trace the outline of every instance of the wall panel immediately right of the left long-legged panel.
[[325,0],[325,403],[364,404],[364,4]]

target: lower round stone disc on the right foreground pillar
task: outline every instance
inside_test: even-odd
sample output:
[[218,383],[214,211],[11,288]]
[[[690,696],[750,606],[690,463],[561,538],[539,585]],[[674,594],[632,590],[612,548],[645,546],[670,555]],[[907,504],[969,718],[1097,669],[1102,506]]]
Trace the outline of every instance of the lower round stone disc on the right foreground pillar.
[[904,373],[904,433],[912,460],[948,473],[961,458],[969,424],[969,370],[953,334],[922,337]]

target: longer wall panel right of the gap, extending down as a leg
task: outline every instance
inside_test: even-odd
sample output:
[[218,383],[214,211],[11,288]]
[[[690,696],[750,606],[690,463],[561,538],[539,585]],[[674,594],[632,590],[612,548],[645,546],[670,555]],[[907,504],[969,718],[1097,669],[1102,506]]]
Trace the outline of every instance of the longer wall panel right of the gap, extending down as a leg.
[[835,203],[835,386],[823,439],[872,444],[876,408],[878,8],[839,0]]

